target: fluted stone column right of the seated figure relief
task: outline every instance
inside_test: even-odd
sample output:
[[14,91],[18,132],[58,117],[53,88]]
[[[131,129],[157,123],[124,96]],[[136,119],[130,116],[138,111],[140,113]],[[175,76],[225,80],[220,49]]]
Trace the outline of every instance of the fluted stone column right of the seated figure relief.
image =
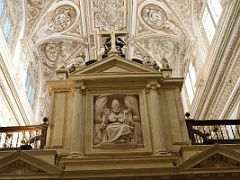
[[148,98],[148,111],[150,115],[150,128],[152,133],[153,153],[167,153],[164,122],[160,114],[160,102],[158,89],[160,84],[157,81],[148,81],[146,86]]

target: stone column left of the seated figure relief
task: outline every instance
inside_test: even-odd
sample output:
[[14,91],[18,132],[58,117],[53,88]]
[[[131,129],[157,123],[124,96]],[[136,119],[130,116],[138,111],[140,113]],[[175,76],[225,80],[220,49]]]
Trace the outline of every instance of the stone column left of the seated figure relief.
[[71,133],[71,156],[83,156],[84,96],[86,87],[80,85],[73,90],[73,121]]

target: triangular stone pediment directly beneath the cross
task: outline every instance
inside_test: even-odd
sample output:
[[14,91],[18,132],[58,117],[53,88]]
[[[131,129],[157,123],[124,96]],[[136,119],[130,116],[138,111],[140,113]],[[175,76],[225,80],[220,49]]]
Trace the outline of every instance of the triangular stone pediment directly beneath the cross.
[[145,65],[127,60],[120,56],[114,55],[100,60],[87,66],[82,70],[72,73],[70,76],[80,74],[119,74],[119,73],[159,73],[159,71]]

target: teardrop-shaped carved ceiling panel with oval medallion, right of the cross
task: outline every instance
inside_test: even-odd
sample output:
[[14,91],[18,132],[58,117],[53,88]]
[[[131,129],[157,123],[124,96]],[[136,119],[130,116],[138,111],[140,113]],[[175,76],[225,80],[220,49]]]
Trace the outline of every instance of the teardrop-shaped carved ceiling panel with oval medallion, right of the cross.
[[141,18],[145,24],[157,31],[182,34],[180,28],[168,19],[166,12],[156,4],[147,4],[141,9]]

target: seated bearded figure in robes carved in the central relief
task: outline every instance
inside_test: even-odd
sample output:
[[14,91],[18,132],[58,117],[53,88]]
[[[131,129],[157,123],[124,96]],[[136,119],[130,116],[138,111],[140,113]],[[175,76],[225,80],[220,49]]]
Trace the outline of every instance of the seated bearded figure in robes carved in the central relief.
[[105,130],[105,142],[124,143],[130,141],[132,126],[126,123],[127,118],[121,111],[120,103],[114,99],[112,101],[112,110],[106,110],[105,119],[102,122],[101,129]]

